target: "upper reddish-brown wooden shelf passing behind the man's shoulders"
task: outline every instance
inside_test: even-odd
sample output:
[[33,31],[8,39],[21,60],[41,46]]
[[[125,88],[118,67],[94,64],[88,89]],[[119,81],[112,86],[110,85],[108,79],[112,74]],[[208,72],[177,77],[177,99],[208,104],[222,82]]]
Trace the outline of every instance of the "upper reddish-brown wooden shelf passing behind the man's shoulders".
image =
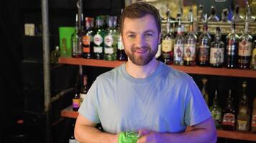
[[[99,66],[114,68],[124,63],[124,61],[104,61],[97,59],[83,59],[83,58],[59,58],[60,64],[76,64],[84,66]],[[227,77],[248,77],[256,78],[256,71],[252,69],[226,69],[226,68],[213,68],[201,66],[175,66],[171,65],[174,69],[184,71],[188,74],[206,74],[215,76]]]

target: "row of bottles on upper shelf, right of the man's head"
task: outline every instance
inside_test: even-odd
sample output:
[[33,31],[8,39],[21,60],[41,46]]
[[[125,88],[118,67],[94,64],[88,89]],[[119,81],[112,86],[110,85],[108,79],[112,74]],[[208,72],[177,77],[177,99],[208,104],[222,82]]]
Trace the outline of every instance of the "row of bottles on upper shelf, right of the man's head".
[[237,36],[235,33],[236,23],[233,20],[232,32],[227,35],[227,42],[224,43],[221,41],[220,27],[216,27],[214,40],[211,40],[207,15],[204,21],[204,31],[200,36],[197,31],[193,30],[193,14],[190,16],[188,34],[184,36],[183,24],[178,19],[177,34],[175,35],[173,27],[170,26],[170,11],[167,12],[166,32],[162,37],[161,45],[162,54],[158,59],[165,64],[256,69],[256,44],[253,49],[252,36],[248,34],[248,19],[245,21],[244,34],[241,36]]

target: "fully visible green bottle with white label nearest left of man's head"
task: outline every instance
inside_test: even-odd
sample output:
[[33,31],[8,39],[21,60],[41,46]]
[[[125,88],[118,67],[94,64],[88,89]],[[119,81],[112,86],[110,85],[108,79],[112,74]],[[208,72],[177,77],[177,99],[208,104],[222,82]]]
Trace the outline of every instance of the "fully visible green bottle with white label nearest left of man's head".
[[114,16],[109,16],[107,19],[108,28],[104,36],[104,60],[116,60],[117,37],[114,26]]

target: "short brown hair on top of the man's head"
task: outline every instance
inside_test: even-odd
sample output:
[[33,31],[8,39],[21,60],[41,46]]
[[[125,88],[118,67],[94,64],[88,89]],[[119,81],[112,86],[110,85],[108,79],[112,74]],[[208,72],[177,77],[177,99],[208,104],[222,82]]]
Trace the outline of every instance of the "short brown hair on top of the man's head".
[[138,19],[138,18],[142,18],[146,14],[150,14],[154,17],[155,24],[157,24],[157,30],[158,32],[160,32],[161,17],[158,10],[155,8],[155,6],[152,6],[145,2],[137,2],[124,8],[124,11],[121,14],[121,21],[120,21],[121,34],[123,33],[125,18]]

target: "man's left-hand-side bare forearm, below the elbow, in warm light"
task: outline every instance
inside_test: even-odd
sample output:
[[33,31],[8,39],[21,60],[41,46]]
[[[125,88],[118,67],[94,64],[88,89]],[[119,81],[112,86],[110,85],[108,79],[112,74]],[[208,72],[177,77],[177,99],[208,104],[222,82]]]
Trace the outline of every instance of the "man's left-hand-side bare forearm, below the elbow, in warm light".
[[96,127],[76,124],[75,137],[78,142],[90,142],[90,143],[101,143],[101,142],[117,142],[117,134],[109,134],[101,132]]

